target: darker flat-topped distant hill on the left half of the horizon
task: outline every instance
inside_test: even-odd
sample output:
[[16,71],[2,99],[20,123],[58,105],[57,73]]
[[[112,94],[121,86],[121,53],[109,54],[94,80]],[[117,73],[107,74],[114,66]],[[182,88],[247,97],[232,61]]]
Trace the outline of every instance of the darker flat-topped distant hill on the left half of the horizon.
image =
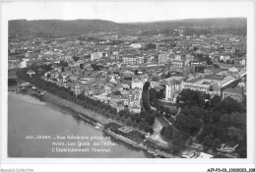
[[72,35],[90,31],[115,30],[119,24],[101,20],[15,20],[9,21],[9,35]]

